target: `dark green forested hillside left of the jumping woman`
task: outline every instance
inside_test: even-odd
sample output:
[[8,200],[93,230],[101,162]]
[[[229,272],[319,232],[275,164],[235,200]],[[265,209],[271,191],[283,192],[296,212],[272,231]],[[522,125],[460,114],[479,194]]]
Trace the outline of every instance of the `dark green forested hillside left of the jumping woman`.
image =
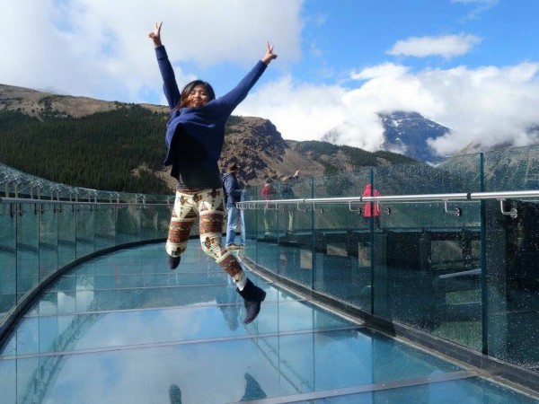
[[137,105],[78,119],[0,111],[0,162],[39,177],[91,189],[161,193],[167,114]]

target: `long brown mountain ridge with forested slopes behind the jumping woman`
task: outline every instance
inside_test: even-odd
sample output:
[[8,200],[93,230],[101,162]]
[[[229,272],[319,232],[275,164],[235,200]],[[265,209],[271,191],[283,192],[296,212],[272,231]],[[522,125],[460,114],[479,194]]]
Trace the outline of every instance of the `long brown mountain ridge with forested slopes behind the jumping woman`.
[[[163,193],[175,185],[163,168],[168,109],[100,101],[0,84],[0,162],[67,185]],[[369,153],[328,142],[285,140],[270,120],[229,119],[219,161],[240,165],[247,185],[411,162],[402,154]]]

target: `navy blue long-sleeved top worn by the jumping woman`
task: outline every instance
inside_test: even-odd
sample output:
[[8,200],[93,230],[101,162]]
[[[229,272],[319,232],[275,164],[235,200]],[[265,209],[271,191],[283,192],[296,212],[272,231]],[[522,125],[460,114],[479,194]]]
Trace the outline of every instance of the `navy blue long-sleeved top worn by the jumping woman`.
[[172,164],[172,177],[187,189],[218,189],[221,176],[217,162],[223,150],[226,120],[245,99],[267,65],[259,60],[233,90],[202,107],[173,110],[181,97],[174,71],[163,46],[155,48],[155,54],[171,110],[171,119],[166,124],[164,164]]

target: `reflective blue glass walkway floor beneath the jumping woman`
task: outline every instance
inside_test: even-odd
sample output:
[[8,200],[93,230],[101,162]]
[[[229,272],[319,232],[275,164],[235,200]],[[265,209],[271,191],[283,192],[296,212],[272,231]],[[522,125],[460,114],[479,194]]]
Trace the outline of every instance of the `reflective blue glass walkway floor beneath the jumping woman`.
[[247,272],[267,297],[245,326],[199,242],[175,271],[161,244],[84,263],[0,351],[0,403],[538,402]]

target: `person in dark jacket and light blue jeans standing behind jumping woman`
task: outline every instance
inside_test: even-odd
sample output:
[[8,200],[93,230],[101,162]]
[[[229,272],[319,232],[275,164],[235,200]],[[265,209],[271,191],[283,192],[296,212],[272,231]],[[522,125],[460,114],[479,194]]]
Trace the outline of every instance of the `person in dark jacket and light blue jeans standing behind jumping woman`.
[[[236,202],[242,200],[244,189],[240,188],[236,172],[238,165],[232,162],[226,168],[226,173],[223,176],[223,188],[226,195],[226,211],[228,213],[228,221],[226,224],[226,250],[238,250],[245,248],[245,222],[243,220],[243,212],[236,207]],[[234,244],[236,226],[240,220],[240,245]]]

